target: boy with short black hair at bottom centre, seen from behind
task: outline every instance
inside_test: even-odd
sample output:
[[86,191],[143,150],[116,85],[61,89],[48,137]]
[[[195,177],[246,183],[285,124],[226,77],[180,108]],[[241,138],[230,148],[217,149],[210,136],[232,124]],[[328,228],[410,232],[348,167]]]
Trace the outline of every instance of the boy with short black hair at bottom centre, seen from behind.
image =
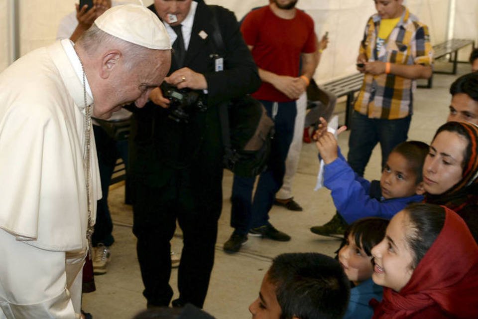
[[265,274],[252,319],[342,318],[349,302],[349,279],[339,262],[318,253],[282,254]]

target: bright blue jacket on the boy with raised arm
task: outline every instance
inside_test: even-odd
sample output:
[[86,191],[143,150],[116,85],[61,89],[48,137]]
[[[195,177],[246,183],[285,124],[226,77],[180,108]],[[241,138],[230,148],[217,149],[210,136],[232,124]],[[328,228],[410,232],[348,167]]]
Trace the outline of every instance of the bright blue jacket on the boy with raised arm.
[[343,157],[325,165],[324,185],[332,191],[335,207],[349,224],[363,217],[390,219],[407,203],[423,199],[420,195],[384,201],[371,198],[368,195],[370,182],[356,176]]

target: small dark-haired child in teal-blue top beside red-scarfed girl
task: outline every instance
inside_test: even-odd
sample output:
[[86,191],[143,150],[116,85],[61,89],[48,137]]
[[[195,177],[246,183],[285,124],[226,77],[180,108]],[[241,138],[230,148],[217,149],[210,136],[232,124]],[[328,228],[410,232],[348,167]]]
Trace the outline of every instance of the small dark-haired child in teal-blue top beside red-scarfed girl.
[[382,241],[387,225],[387,219],[368,217],[355,221],[345,231],[337,259],[353,288],[344,319],[372,317],[373,309],[368,305],[369,300],[382,299],[382,287],[372,281],[371,250]]

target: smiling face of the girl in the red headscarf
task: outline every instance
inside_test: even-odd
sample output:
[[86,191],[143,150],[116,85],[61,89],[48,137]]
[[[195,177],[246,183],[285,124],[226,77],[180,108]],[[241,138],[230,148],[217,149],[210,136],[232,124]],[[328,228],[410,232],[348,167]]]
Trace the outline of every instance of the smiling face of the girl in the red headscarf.
[[372,248],[375,262],[372,279],[375,284],[399,292],[412,277],[412,252],[406,241],[409,218],[405,211],[393,216],[385,238]]

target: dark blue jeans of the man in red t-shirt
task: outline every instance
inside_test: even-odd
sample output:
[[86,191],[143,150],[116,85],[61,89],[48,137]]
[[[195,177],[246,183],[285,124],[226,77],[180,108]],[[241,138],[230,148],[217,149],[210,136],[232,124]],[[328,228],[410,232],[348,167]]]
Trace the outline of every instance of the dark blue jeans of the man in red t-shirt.
[[245,235],[250,228],[268,223],[269,210],[274,202],[275,193],[282,186],[285,174],[285,160],[294,136],[297,108],[295,101],[278,103],[277,114],[272,116],[271,101],[260,101],[267,115],[274,120],[274,137],[267,169],[259,175],[259,181],[252,201],[252,189],[255,177],[234,175],[231,196],[231,227],[234,233]]

